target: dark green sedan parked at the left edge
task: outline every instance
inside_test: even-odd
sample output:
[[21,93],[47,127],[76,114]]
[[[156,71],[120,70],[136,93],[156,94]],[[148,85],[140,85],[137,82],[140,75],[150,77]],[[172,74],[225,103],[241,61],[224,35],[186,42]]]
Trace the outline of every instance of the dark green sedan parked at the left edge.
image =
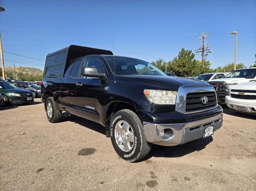
[[5,81],[0,81],[0,93],[2,95],[3,105],[10,103],[29,103],[34,101],[34,96],[31,91],[17,88]]

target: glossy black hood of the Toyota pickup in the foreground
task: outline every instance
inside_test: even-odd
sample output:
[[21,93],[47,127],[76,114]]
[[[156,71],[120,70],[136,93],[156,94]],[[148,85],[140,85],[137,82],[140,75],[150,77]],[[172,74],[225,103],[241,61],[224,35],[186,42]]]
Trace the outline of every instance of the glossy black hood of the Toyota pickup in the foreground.
[[206,82],[195,79],[157,75],[122,75],[120,78],[129,82],[144,83],[161,87],[175,87],[177,89],[182,85],[209,85]]

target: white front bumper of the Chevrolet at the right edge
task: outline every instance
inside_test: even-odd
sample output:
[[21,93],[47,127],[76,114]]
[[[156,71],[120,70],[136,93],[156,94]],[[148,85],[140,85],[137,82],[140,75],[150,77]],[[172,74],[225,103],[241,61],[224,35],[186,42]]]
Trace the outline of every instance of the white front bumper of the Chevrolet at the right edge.
[[[232,98],[230,96],[226,96],[225,102],[226,102],[226,105],[231,109],[237,110],[239,112],[256,114],[256,100],[238,99],[238,98]],[[238,110],[237,106],[245,107],[246,111]]]

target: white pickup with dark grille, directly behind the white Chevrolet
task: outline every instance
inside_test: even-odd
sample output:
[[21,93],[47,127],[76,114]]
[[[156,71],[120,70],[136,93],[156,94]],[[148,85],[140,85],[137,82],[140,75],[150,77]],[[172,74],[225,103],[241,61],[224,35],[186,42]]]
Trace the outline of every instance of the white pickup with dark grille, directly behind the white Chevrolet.
[[216,90],[218,103],[225,103],[225,97],[228,95],[228,87],[251,81],[256,81],[256,67],[237,69],[222,79],[211,80],[207,83],[212,85]]

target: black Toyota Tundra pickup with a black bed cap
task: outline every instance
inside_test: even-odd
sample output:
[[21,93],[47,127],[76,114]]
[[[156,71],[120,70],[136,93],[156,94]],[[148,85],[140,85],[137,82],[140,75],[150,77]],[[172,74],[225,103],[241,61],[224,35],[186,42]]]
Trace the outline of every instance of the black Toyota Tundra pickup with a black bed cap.
[[130,162],[147,156],[152,144],[184,144],[222,126],[208,83],[170,78],[151,63],[107,50],[70,45],[48,54],[41,86],[50,122],[66,111],[102,124]]

